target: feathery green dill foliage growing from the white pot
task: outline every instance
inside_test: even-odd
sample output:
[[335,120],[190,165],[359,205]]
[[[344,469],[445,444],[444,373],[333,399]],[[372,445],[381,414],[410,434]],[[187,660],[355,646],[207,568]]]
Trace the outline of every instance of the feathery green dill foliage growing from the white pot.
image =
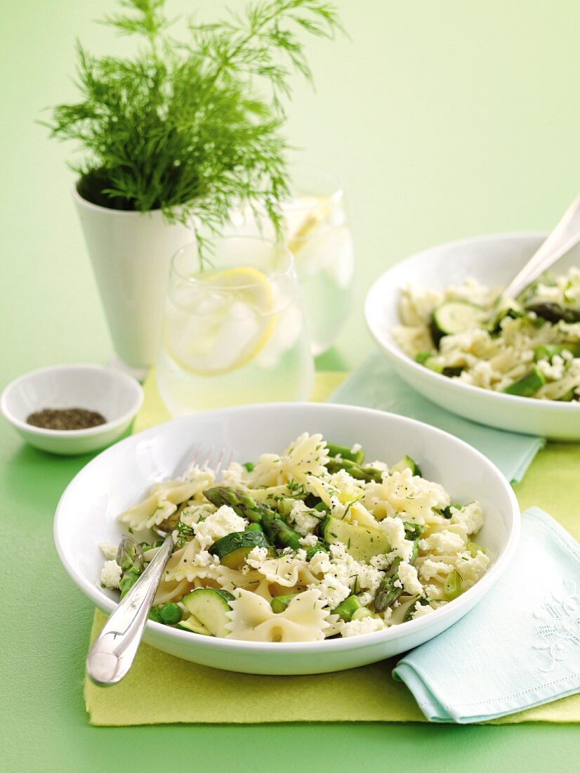
[[170,34],[165,0],[120,0],[103,24],[140,43],[132,58],[92,56],[77,43],[81,100],[59,104],[51,136],[84,155],[71,168],[83,198],[111,209],[161,209],[170,222],[216,234],[234,206],[265,209],[280,233],[288,192],[280,133],[289,77],[311,80],[301,31],[341,29],[324,0],[261,0],[213,24]]

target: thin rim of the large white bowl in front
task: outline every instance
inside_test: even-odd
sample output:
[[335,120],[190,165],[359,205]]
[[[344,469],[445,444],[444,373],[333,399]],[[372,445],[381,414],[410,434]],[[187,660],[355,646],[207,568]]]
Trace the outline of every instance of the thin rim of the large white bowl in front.
[[[220,415],[226,415],[226,416],[229,416],[229,415],[235,416],[236,414],[243,413],[244,410],[248,410],[256,407],[265,407],[266,405],[267,404],[253,404],[253,405],[222,408],[219,410],[208,411],[203,415],[211,416],[212,414],[220,414]],[[295,404],[276,403],[275,405],[276,407],[291,408]],[[402,416],[399,416],[398,414],[388,414],[387,411],[374,410],[371,408],[361,408],[361,407],[355,407],[351,405],[324,404],[324,403],[322,404],[312,403],[312,404],[301,405],[301,408],[305,410],[311,410],[313,413],[316,412],[317,410],[325,410],[325,407],[331,408],[332,410],[343,410],[345,413],[347,412],[352,413],[354,411],[361,415],[371,414],[375,416],[385,416],[385,414],[387,414],[394,421],[402,421],[405,424],[412,424],[415,426],[418,425],[419,427],[429,426],[429,425],[423,424],[421,421],[415,421],[415,419],[402,417]],[[134,438],[137,438],[137,437],[143,440],[146,438],[151,438],[152,436],[154,436],[154,434],[156,434],[156,432],[158,432],[159,426],[175,424],[175,423],[178,423],[179,421],[181,421],[181,419],[179,418],[173,419],[172,421],[165,422],[165,424],[163,425],[151,427],[151,429],[137,433],[136,435],[132,435],[131,438],[125,438],[123,441],[120,441],[119,443],[115,444],[115,448],[122,448],[123,446],[130,445],[132,442],[134,442]],[[470,452],[477,455],[477,458],[479,458],[481,465],[487,467],[488,469],[493,470],[501,478],[504,477],[503,475],[501,475],[497,467],[494,464],[492,464],[492,462],[486,456],[481,454],[480,451],[477,451],[477,449],[473,448],[473,446],[470,446],[464,441],[461,441],[459,438],[455,438],[455,436],[450,435],[448,432],[444,432],[443,430],[439,430],[436,427],[429,426],[429,431],[432,431],[434,434],[439,435],[440,437],[443,437],[443,438],[449,438],[449,437],[453,438],[453,441],[455,441],[456,444],[460,445],[460,447],[467,448],[469,449]],[[103,451],[103,454],[107,454],[107,451]],[[88,468],[91,468],[93,465],[96,465],[99,459],[100,459],[100,455],[94,458],[92,461],[90,461],[87,465],[85,465],[85,467],[75,475],[73,480],[70,482],[69,486],[72,485],[73,482],[75,482],[78,478],[82,478],[85,470]],[[505,486],[506,486],[505,490],[507,492],[508,498],[510,499],[514,512],[517,512],[519,514],[520,508],[519,508],[519,505],[517,504],[516,496],[514,495],[514,492],[511,489],[511,486],[507,482],[507,480],[505,481]],[[91,601],[97,604],[98,607],[106,608],[107,611],[111,612],[117,606],[117,604],[115,604],[115,602],[112,599],[110,599],[107,595],[103,594],[100,591],[100,588],[98,588],[90,581],[86,580],[86,578],[83,577],[83,575],[79,574],[76,571],[76,569],[70,564],[68,558],[66,557],[66,553],[63,550],[63,544],[61,543],[61,540],[60,540],[59,531],[60,531],[61,513],[63,512],[64,506],[66,504],[66,496],[67,496],[67,490],[65,490],[65,492],[63,493],[63,496],[59,501],[59,504],[56,508],[55,518],[54,518],[53,536],[56,544],[56,551],[59,554],[60,560],[63,562],[63,566],[65,567],[66,572],[70,575],[70,577],[76,583],[76,585],[78,585],[80,589],[84,591],[84,593],[91,599]],[[510,564],[512,557],[514,556],[519,534],[520,534],[520,519],[516,518],[514,519],[514,523],[512,525],[510,533],[508,533],[507,535],[507,542],[506,542],[504,551],[501,553],[500,557],[498,557],[497,560],[494,561],[494,564],[491,565],[487,573],[484,574],[479,581],[477,581],[476,585],[470,587],[467,591],[465,591],[465,593],[461,594],[459,598],[456,598],[453,601],[449,601],[449,604],[446,604],[443,608],[439,608],[432,615],[426,615],[425,617],[405,622],[403,625],[394,625],[392,626],[392,628],[386,628],[383,631],[377,631],[377,632],[372,632],[368,634],[361,634],[353,638],[347,637],[347,638],[327,639],[327,640],[322,640],[320,642],[249,642],[249,641],[239,640],[239,639],[212,637],[212,641],[211,641],[212,648],[221,649],[224,651],[250,649],[253,652],[272,652],[273,649],[275,649],[276,652],[312,653],[312,652],[320,652],[321,649],[327,649],[327,648],[339,649],[339,650],[351,649],[351,647],[353,646],[354,640],[356,641],[357,647],[370,646],[380,641],[396,640],[397,638],[405,636],[409,631],[420,630],[421,628],[430,628],[431,625],[436,625],[437,620],[441,621],[444,617],[453,615],[456,605],[458,603],[461,603],[462,599],[470,598],[470,595],[473,593],[476,587],[479,589],[479,591],[483,590],[483,593],[485,593],[487,590],[490,589],[492,585],[495,584],[495,582],[500,578],[504,568],[506,568],[507,565]],[[147,625],[153,626],[153,630],[164,632],[165,635],[168,636],[168,638],[175,639],[181,642],[191,641],[192,635],[196,637],[196,641],[199,641],[199,639],[207,640],[208,638],[206,636],[192,634],[190,632],[179,631],[178,628],[171,628],[167,625],[163,625],[162,623],[154,622],[152,620],[149,620]],[[413,626],[413,628],[409,628],[408,626]]]

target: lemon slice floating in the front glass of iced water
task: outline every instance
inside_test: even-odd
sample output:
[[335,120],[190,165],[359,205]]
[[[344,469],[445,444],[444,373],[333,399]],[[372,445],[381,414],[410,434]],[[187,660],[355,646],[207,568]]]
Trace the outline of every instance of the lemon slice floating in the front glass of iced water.
[[220,376],[250,363],[276,328],[274,296],[250,266],[209,274],[168,305],[165,349],[196,376]]

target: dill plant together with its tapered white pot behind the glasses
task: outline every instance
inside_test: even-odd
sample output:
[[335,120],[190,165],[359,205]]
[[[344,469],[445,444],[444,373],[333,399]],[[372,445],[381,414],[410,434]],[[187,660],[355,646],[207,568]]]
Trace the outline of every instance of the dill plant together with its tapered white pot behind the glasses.
[[[171,255],[208,242],[240,206],[281,233],[288,192],[283,101],[300,33],[332,38],[324,0],[262,0],[221,22],[188,21],[175,38],[165,0],[120,0],[103,23],[136,39],[134,55],[91,56],[78,44],[80,101],[53,108],[51,136],[73,140],[73,197],[121,363],[154,362]],[[171,28],[171,29],[170,29]]]

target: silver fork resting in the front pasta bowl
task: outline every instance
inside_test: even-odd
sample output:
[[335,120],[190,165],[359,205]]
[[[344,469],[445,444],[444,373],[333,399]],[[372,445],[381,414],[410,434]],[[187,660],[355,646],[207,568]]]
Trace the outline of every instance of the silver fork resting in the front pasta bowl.
[[[232,458],[224,448],[219,451],[209,448],[202,462],[198,461],[200,455],[199,447],[195,447],[182,474],[175,477],[185,478],[193,467],[198,466],[213,467],[217,479]],[[212,462],[213,458],[215,461]],[[164,537],[163,544],[141,577],[111,612],[86,656],[86,673],[95,684],[108,686],[120,682],[137,655],[165,564],[175,547],[171,533],[156,528],[153,531]]]

